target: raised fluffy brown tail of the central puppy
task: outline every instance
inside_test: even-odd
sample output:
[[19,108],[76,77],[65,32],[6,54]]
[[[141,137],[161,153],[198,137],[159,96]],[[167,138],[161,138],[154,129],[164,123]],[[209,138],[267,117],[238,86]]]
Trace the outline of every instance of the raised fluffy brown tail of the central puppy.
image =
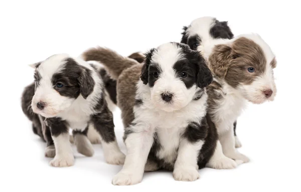
[[139,64],[136,60],[123,57],[113,50],[96,47],[85,51],[82,54],[85,61],[98,61],[108,70],[112,79],[117,80],[123,70]]

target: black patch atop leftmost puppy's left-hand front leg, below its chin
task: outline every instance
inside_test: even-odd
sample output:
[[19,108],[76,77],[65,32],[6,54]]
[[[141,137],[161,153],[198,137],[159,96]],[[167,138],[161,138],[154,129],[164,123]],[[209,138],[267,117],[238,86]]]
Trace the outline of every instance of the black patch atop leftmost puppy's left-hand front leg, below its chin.
[[47,118],[46,119],[47,125],[50,127],[51,135],[52,136],[59,136],[62,133],[68,133],[68,123],[65,120],[62,120],[59,117]]

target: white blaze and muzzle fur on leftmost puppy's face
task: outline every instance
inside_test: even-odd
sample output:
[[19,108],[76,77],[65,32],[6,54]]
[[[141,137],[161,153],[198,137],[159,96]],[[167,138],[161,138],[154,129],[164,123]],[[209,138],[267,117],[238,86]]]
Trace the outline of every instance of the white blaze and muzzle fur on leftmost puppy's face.
[[[54,89],[52,76],[62,69],[64,60],[69,56],[66,54],[54,55],[41,63],[36,69],[40,74],[41,80],[36,85],[35,95],[32,100],[32,109],[44,117],[54,117],[64,109],[71,106],[74,99],[61,96]],[[44,109],[39,109],[37,104],[43,102]]]

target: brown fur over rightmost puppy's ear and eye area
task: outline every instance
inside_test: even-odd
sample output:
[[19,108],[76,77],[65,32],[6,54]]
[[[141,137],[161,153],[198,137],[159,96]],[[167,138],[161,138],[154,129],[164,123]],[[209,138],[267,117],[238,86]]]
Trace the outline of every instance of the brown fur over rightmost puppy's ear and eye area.
[[[241,37],[229,45],[217,45],[209,56],[212,72],[232,87],[239,83],[251,84],[265,71],[266,59],[261,47],[254,41]],[[274,65],[274,64],[272,64]],[[255,68],[249,73],[249,67]]]

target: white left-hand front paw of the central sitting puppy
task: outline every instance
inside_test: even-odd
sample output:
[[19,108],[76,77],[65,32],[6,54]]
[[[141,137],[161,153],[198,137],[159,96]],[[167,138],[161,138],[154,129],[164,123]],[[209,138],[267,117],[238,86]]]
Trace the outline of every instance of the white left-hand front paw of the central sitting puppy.
[[133,173],[128,171],[118,172],[112,179],[112,184],[114,185],[132,185],[141,182],[143,174]]

